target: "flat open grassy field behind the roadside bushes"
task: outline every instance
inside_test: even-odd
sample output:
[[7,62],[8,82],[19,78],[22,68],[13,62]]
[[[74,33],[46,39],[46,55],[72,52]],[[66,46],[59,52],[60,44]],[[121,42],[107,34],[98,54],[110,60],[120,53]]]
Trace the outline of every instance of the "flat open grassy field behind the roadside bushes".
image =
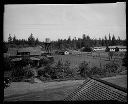
[[[99,57],[99,53],[100,56]],[[110,62],[108,58],[108,54],[106,52],[93,52],[93,53],[82,53],[81,55],[54,55],[55,62],[58,62],[59,60],[62,60],[62,62],[65,62],[68,60],[71,63],[71,66],[78,66],[82,61],[89,62],[90,67],[97,66],[100,67],[105,65],[106,63]],[[122,58],[120,56],[114,56],[112,60],[115,60],[116,63],[119,63],[119,65],[122,64]]]

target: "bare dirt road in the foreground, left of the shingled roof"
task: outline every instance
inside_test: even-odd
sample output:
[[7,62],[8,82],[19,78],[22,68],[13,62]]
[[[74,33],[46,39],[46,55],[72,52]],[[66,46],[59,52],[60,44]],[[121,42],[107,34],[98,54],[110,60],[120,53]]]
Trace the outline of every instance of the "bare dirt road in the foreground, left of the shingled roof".
[[69,80],[34,84],[27,82],[13,82],[10,87],[4,90],[4,100],[62,100],[67,94],[83,84],[83,81],[84,80]]

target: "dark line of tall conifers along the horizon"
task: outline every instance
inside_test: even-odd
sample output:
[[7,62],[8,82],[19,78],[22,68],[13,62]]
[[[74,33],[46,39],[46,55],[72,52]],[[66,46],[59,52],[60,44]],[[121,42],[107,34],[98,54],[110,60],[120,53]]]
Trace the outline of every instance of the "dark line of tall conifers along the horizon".
[[[39,41],[38,38],[35,38],[31,33],[27,40],[25,39],[17,39],[9,34],[8,42],[4,42],[9,47],[17,47],[17,46],[36,46],[36,45],[44,45],[44,42]],[[89,35],[83,34],[81,38],[76,39],[74,37],[71,39],[69,36],[68,39],[58,39],[57,41],[51,41],[53,49],[81,49],[82,47],[96,47],[96,46],[114,46],[114,45],[126,45],[126,40],[118,38],[116,39],[113,35],[108,34],[108,37],[105,35],[104,38],[99,39],[91,39]]]

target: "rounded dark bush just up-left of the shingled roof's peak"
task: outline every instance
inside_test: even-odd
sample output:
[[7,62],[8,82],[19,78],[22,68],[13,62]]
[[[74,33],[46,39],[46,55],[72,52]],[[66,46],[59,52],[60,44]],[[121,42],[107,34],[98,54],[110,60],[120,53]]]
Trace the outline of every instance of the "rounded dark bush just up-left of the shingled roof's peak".
[[90,68],[88,66],[88,63],[86,61],[83,61],[80,65],[79,65],[79,70],[78,70],[79,74],[82,77],[87,77],[90,76]]

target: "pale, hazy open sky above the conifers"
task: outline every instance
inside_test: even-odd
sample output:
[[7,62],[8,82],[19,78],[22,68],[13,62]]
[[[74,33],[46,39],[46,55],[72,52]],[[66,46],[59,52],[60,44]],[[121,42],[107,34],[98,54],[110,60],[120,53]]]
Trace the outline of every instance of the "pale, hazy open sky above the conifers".
[[110,33],[126,39],[124,2],[100,4],[9,4],[4,10],[4,41],[9,34],[27,39],[30,34],[40,41],[104,38]]

